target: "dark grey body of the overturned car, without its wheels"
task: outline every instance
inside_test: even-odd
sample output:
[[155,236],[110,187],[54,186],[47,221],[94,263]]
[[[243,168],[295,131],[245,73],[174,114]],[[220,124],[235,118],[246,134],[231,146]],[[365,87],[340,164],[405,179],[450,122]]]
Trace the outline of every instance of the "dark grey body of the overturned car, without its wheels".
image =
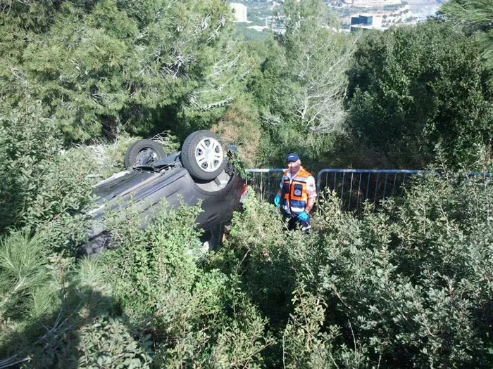
[[[196,205],[200,200],[201,212],[196,223],[218,238],[218,227],[232,219],[233,212],[241,208],[241,198],[246,190],[244,180],[229,160],[220,177],[201,182],[192,179],[182,166],[180,153],[168,155],[152,167],[137,166],[98,183],[93,188],[99,207],[89,212],[94,226],[89,232],[89,242],[83,246],[87,254],[108,248],[111,236],[104,227],[108,212],[132,209],[141,214],[142,227],[152,219],[161,200],[166,198],[169,207],[179,207],[182,202]],[[219,240],[216,240],[218,242]]]

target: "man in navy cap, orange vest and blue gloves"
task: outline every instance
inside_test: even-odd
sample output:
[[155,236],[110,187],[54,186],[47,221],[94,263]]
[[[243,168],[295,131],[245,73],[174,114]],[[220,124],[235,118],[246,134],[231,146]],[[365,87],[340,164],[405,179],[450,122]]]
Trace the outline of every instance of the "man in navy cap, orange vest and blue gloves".
[[299,225],[301,231],[308,232],[311,228],[309,213],[317,197],[315,179],[301,167],[298,155],[288,154],[286,162],[289,169],[282,175],[281,189],[274,204],[281,207],[282,219],[287,221],[288,229]]

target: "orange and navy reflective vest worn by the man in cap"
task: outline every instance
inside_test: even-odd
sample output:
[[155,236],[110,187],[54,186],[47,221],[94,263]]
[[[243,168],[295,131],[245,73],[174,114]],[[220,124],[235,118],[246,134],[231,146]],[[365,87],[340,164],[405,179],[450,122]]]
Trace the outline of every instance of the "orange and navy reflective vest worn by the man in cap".
[[300,167],[298,174],[291,179],[287,174],[289,169],[282,175],[281,209],[286,214],[299,214],[304,212],[308,197],[316,193],[314,188],[308,190],[307,182],[311,174]]

